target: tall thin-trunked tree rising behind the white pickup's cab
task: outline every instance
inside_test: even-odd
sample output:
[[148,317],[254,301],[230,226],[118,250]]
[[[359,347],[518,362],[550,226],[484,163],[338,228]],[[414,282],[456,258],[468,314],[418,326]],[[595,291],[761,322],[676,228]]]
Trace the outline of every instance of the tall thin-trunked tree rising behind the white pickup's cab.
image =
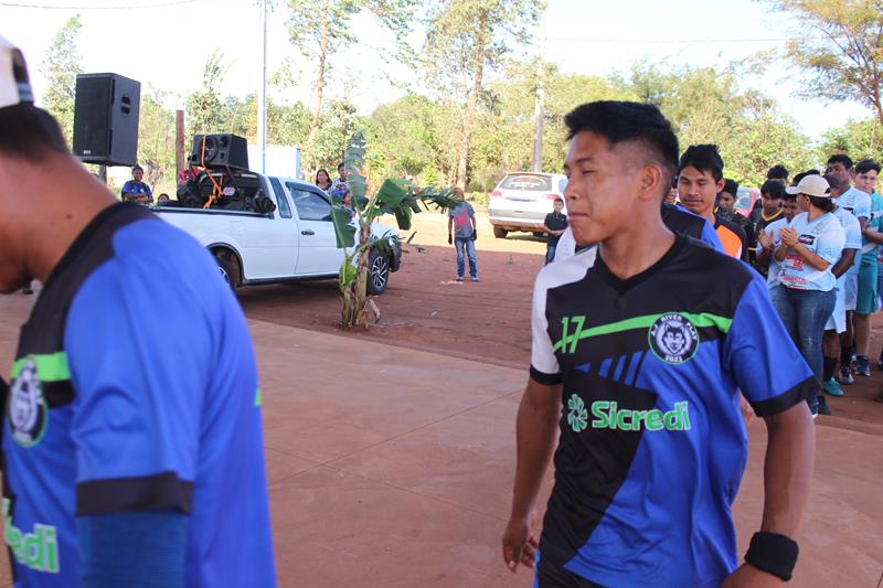
[[304,56],[315,60],[316,63],[316,97],[306,153],[310,164],[316,164],[315,138],[320,126],[331,58],[340,49],[357,41],[352,32],[353,17],[369,10],[383,25],[397,33],[400,46],[404,46],[403,40],[415,2],[416,0],[289,0],[289,17],[286,22],[288,39],[300,49]]

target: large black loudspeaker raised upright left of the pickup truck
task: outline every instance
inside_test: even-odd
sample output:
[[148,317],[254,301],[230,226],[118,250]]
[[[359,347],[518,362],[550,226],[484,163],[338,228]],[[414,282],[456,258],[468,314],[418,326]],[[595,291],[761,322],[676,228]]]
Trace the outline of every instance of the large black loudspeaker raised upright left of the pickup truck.
[[141,83],[117,74],[76,76],[74,154],[86,163],[135,165]]

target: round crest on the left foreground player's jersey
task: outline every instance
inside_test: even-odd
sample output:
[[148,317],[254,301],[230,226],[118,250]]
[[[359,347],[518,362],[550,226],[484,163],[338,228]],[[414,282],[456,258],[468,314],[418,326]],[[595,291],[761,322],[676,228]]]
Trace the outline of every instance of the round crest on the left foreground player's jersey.
[[46,399],[38,376],[36,362],[28,357],[9,388],[9,432],[20,446],[32,447],[43,438],[47,420]]

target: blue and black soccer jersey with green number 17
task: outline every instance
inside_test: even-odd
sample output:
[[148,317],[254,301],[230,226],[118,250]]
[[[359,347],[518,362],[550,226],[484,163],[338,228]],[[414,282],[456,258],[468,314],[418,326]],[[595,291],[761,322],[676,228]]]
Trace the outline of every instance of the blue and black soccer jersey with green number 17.
[[818,389],[759,277],[683,236],[627,280],[597,248],[543,268],[531,376],[563,384],[541,562],[604,586],[720,586],[747,460],[738,389],[759,416]]

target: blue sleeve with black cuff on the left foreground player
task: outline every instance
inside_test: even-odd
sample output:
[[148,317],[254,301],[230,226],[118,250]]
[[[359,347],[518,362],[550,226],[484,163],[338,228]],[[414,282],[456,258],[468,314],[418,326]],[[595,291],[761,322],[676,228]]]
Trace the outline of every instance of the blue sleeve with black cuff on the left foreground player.
[[174,264],[185,260],[114,257],[72,302],[77,514],[192,509],[216,327],[201,307],[211,300],[199,302]]

